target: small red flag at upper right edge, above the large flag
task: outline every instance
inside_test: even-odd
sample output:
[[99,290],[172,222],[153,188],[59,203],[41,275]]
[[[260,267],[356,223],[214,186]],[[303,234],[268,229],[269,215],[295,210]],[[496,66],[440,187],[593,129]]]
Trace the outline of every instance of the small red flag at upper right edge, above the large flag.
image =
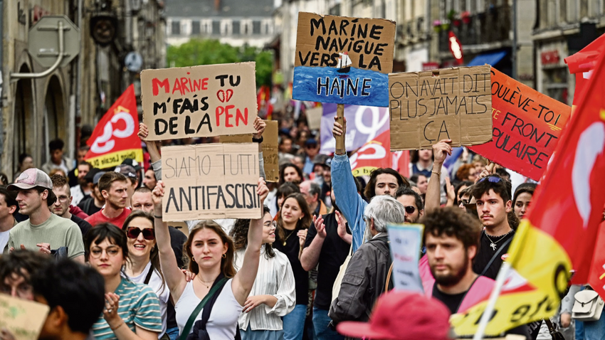
[[578,53],[569,55],[569,57],[564,59],[565,63],[567,63],[567,67],[569,67],[569,73],[576,75],[574,106],[579,104],[580,95],[586,87],[586,83],[588,83],[590,75],[596,66],[596,60],[599,59],[599,55],[604,51],[604,46],[605,34],[596,38],[595,41],[589,43],[588,46],[582,48]]

